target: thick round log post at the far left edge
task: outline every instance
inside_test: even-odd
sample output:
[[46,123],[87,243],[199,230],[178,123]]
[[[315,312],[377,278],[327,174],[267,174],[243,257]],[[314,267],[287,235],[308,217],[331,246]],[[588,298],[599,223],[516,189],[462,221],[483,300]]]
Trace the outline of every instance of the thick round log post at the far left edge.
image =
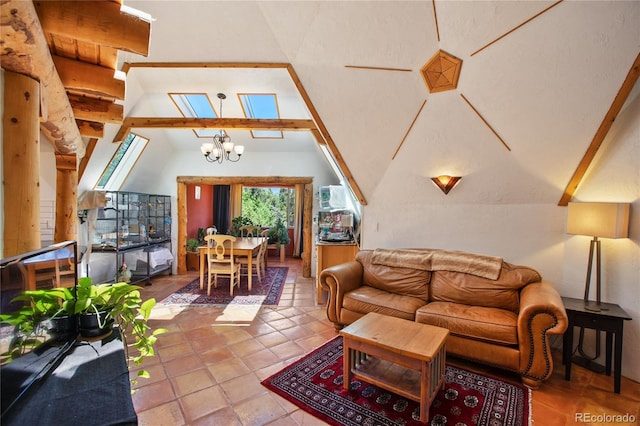
[[14,256],[40,248],[40,84],[4,74],[2,161],[4,252]]

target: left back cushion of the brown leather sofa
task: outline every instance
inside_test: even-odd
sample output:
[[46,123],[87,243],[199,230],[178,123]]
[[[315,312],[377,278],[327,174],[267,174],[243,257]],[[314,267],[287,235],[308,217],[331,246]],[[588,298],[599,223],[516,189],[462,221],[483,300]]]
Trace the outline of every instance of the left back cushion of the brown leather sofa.
[[356,255],[356,260],[364,266],[363,284],[402,296],[417,297],[423,303],[429,299],[430,271],[373,264],[372,255],[372,250],[361,250]]

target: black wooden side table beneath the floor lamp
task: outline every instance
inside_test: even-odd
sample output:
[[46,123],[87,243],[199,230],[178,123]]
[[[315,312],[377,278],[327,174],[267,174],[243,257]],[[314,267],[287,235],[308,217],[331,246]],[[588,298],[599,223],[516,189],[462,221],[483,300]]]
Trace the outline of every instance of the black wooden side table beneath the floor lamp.
[[[564,363],[564,378],[571,380],[571,355],[573,350],[573,327],[584,327],[596,330],[598,333],[607,333],[606,341],[606,364],[605,373],[611,375],[611,353],[614,349],[613,335],[615,335],[615,358],[613,388],[615,393],[620,393],[620,375],[622,371],[622,331],[624,321],[631,320],[631,317],[619,306],[613,303],[602,303],[603,310],[599,312],[585,308],[583,299],[563,297],[569,326],[562,339],[562,362]],[[606,310],[605,310],[606,309]]]

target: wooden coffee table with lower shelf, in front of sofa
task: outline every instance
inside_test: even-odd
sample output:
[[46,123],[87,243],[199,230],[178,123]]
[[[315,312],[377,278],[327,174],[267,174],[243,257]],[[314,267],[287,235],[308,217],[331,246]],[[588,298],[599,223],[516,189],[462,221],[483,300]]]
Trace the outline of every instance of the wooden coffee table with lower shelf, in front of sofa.
[[356,377],[420,403],[420,421],[444,384],[449,330],[369,313],[340,331],[344,388]]

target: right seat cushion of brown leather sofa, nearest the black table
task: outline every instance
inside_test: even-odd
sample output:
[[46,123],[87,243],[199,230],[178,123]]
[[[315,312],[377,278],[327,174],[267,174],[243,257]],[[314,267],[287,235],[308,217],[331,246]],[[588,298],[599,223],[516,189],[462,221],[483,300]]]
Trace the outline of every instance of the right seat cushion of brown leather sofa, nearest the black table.
[[518,344],[518,316],[505,309],[431,302],[416,311],[415,321],[446,328],[456,336],[501,345]]

